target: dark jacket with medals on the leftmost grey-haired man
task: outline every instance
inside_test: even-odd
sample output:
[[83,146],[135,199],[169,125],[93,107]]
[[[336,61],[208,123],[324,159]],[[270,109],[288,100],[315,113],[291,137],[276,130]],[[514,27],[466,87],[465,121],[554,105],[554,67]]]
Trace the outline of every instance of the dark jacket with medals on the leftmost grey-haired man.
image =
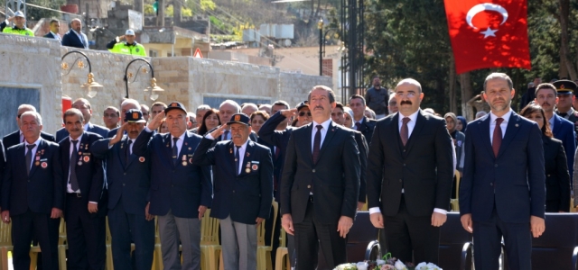
[[33,157],[30,175],[26,175],[25,146],[20,143],[6,152],[5,177],[2,182],[2,210],[10,215],[30,209],[50,214],[52,208],[63,210],[61,157],[58,144],[41,139]]

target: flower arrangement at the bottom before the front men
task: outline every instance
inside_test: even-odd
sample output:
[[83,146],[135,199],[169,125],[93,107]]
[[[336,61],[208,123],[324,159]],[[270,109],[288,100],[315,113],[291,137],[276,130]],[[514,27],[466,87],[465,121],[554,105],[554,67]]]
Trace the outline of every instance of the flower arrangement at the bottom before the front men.
[[440,266],[432,263],[420,263],[415,266],[412,263],[404,264],[402,261],[387,253],[382,259],[376,261],[365,261],[357,264],[343,264],[333,270],[443,270]]

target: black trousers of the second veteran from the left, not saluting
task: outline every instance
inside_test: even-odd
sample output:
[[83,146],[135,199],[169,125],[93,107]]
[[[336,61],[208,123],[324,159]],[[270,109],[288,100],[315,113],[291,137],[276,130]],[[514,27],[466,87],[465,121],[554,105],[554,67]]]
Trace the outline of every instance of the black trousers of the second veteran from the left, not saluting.
[[[107,207],[98,205],[98,207]],[[68,269],[103,270],[107,253],[106,220],[89,213],[89,205],[75,195],[66,198],[66,237],[69,244]]]

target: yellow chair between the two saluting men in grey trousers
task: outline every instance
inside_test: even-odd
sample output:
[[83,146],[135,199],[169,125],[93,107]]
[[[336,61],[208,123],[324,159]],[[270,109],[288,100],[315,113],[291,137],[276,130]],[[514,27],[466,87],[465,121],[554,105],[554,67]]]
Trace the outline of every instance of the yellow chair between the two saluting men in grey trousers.
[[200,220],[200,267],[217,269],[219,265],[219,220],[210,217],[210,209]]

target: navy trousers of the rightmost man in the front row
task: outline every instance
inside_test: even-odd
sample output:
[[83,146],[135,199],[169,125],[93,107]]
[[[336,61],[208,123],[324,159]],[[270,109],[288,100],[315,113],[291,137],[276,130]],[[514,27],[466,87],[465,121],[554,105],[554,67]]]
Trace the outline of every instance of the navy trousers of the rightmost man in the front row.
[[473,254],[476,270],[499,268],[502,237],[506,247],[508,269],[532,269],[532,233],[529,226],[529,222],[502,221],[496,207],[489,220],[473,221]]

